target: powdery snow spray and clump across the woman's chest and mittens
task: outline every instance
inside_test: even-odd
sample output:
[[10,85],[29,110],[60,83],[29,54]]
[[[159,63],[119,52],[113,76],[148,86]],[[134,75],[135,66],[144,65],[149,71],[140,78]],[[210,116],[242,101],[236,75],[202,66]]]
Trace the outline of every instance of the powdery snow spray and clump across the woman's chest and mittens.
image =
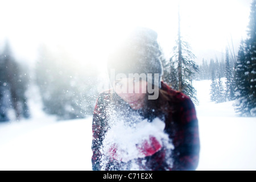
[[[165,123],[158,117],[151,122],[137,112],[109,109],[109,128],[102,141],[100,149],[101,170],[152,170],[154,166],[148,163],[147,156],[152,156],[164,150],[164,162],[172,166],[172,150],[174,146],[164,132]],[[114,160],[113,160],[114,159]],[[109,166],[109,161],[114,161]]]

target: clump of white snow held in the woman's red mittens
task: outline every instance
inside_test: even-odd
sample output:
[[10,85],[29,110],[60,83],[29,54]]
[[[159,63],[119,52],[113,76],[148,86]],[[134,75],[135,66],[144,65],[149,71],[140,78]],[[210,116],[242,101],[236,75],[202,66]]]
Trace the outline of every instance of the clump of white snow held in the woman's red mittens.
[[159,118],[152,122],[144,119],[132,126],[124,121],[115,122],[105,135],[101,152],[122,162],[151,156],[168,143],[164,126]]

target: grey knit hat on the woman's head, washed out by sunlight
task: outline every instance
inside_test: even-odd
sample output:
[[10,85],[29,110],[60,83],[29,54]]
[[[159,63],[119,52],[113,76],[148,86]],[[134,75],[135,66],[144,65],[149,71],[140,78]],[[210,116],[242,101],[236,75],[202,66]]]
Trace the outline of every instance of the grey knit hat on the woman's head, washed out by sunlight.
[[[146,74],[146,81],[154,84],[154,76],[158,74],[158,86],[163,74],[159,59],[160,50],[157,42],[158,34],[150,28],[137,27],[125,39],[125,42],[108,57],[108,73],[114,69],[115,74]],[[148,77],[152,73],[152,77]],[[156,75],[157,76],[157,75]],[[113,81],[113,79],[110,81]]]

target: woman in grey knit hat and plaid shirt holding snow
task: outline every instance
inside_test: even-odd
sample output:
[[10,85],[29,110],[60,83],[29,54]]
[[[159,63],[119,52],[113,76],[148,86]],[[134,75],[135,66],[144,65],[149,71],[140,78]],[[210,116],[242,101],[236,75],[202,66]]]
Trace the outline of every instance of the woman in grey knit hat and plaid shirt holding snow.
[[137,28],[108,59],[114,89],[93,114],[93,170],[195,170],[199,131],[188,96],[161,80],[156,32]]

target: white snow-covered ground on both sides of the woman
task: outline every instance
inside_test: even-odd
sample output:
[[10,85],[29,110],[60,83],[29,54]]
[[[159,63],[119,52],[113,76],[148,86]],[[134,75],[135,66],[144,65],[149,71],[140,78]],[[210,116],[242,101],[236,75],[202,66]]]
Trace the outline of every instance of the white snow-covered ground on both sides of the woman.
[[[198,170],[256,170],[256,118],[233,102],[209,100],[210,81],[194,83],[201,140]],[[92,117],[56,122],[42,115],[0,123],[0,170],[91,170]]]

